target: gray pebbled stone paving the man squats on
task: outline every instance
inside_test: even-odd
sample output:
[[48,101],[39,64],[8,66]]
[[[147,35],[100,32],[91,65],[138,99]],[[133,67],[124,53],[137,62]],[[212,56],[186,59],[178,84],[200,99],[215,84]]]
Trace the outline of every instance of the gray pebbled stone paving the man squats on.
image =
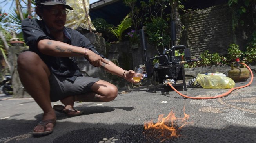
[[[236,87],[249,82],[236,83]],[[187,88],[181,93],[216,96],[229,89]],[[33,137],[31,132],[42,118],[42,110],[33,99],[0,97],[0,143],[255,143],[256,82],[217,99],[191,100],[158,85],[120,91],[112,102],[75,103],[84,114],[67,117],[57,113],[54,132]],[[5,100],[7,99],[7,100]],[[60,104],[60,102],[53,102]],[[178,130],[178,138],[161,136],[158,130],[145,130],[144,122],[157,122],[171,111],[182,118],[183,108],[190,117]],[[169,134],[169,132],[165,132]]]

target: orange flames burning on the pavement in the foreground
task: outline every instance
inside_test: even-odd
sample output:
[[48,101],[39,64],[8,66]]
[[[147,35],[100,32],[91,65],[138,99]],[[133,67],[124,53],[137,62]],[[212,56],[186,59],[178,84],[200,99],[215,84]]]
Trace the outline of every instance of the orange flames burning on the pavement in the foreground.
[[[189,115],[185,113],[185,107],[183,108],[183,112],[183,118],[176,118],[175,113],[171,111],[165,118],[163,117],[163,114],[159,115],[158,121],[155,124],[152,120],[149,122],[145,122],[144,127],[146,131],[143,132],[143,134],[147,134],[147,132],[150,132],[149,134],[158,134],[158,138],[179,137],[180,134],[178,133],[178,130],[180,130],[186,124],[191,123],[187,122]],[[162,141],[164,140],[165,139],[163,139]]]

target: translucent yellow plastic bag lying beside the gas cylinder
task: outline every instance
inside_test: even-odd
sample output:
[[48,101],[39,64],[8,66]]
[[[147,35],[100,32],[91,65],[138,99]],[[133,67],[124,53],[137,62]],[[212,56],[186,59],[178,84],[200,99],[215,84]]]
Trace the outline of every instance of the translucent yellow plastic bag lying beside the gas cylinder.
[[229,77],[219,75],[205,75],[198,73],[194,85],[198,83],[203,88],[233,88],[235,86],[234,80]]

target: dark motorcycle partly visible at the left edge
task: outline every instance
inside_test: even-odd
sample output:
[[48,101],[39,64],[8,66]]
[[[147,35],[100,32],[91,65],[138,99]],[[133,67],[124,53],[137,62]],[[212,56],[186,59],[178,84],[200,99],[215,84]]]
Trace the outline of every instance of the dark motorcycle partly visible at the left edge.
[[6,95],[13,94],[13,87],[11,84],[11,76],[10,75],[5,75],[4,80],[0,83],[0,88],[1,87],[2,87],[2,91],[4,94],[6,94]]

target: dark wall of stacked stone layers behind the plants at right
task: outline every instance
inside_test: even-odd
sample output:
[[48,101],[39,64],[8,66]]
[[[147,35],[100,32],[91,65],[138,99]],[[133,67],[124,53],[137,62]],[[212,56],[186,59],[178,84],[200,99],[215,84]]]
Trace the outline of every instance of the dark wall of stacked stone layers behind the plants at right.
[[233,42],[231,10],[228,5],[218,5],[193,11],[182,16],[185,26],[182,44],[191,50],[192,57],[209,50],[209,53],[226,55]]

